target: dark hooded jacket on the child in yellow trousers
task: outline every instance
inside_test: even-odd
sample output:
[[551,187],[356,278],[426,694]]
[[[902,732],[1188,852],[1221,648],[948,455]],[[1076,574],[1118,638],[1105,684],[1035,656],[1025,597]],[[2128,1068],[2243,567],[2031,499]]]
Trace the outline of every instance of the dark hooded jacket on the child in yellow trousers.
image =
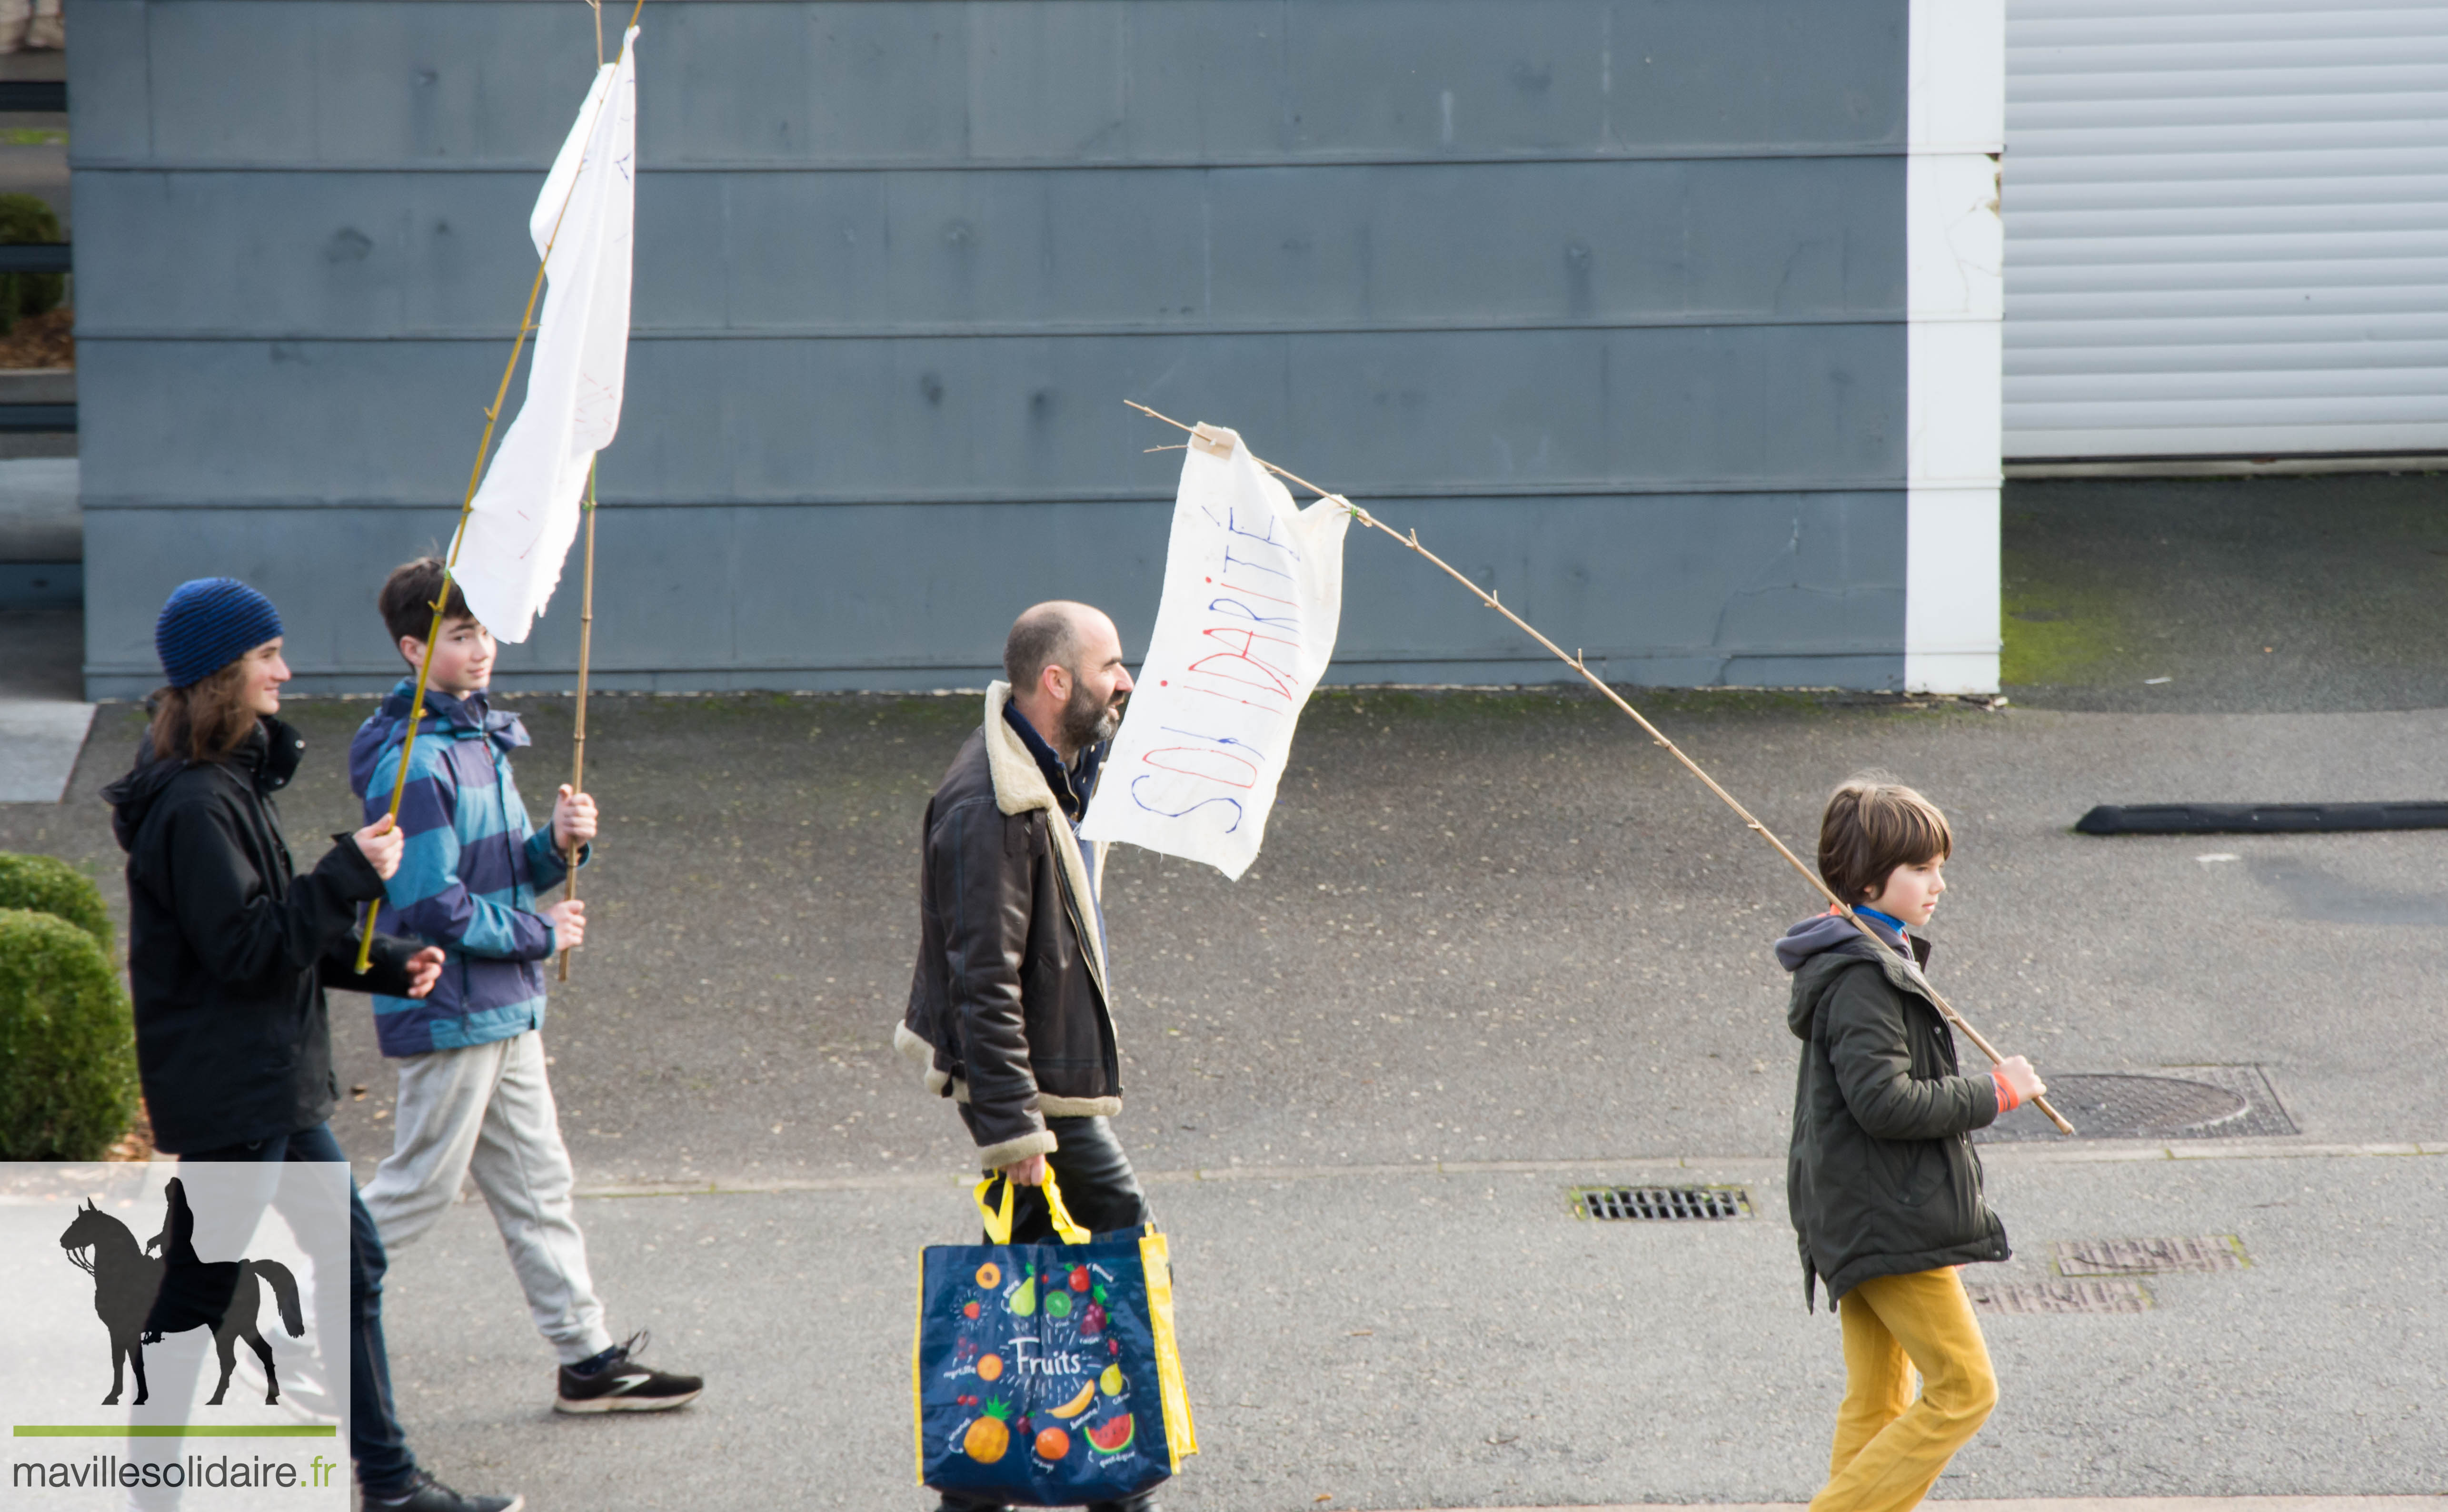
[[[1929,942],[1912,947],[1927,964]],[[1998,1084],[1958,1074],[1956,1035],[1905,959],[1829,915],[1787,930],[1777,959],[1802,1040],[1785,1199],[1804,1302],[1814,1280],[1834,1306],[1878,1275],[2005,1260],[1971,1143],[1998,1118]]]

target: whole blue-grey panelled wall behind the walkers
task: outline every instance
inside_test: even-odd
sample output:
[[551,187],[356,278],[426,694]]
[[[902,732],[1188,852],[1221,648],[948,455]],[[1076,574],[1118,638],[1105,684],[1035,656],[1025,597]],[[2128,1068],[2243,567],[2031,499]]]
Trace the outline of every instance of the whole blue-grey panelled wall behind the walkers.
[[[1900,685],[1909,10],[654,0],[602,685],[974,685],[1053,595],[1141,643],[1180,460],[1124,399],[1616,680]],[[203,573],[304,687],[387,683],[588,10],[71,12],[88,687],[152,687]],[[573,563],[504,683],[565,685],[575,621]],[[1354,536],[1334,678],[1554,670]]]

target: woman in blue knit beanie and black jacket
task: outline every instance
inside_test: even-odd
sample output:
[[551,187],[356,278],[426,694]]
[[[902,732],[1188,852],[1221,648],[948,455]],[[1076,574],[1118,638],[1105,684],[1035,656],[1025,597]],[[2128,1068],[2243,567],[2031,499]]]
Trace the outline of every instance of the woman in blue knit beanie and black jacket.
[[[154,621],[169,680],[135,771],[103,790],[127,851],[127,979],[137,1072],[154,1147],[181,1160],[345,1162],[330,1135],[340,1084],[330,1064],[326,986],[424,998],[443,952],[377,937],[355,969],[365,905],[399,871],[392,820],[343,834],[296,871],[272,795],[296,776],[304,736],[279,719],[282,617],[235,577],[179,585]],[[426,1475],[392,1414],[382,1343],[382,1238],[350,1182],[348,1311],[338,1292],[326,1338],[348,1336],[350,1458],[367,1507],[507,1510]],[[181,1277],[164,1275],[176,1302]],[[186,1329],[179,1306],[154,1329]],[[343,1329],[345,1319],[345,1329]],[[142,1385],[140,1385],[142,1390]]]

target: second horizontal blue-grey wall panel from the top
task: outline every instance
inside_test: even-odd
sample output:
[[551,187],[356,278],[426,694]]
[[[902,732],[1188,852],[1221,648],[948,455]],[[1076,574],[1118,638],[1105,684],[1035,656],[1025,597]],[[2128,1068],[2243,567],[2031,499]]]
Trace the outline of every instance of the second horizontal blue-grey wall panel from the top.
[[[512,174],[78,179],[78,335],[477,335],[534,276]],[[636,330],[1900,321],[1895,159],[659,174]]]

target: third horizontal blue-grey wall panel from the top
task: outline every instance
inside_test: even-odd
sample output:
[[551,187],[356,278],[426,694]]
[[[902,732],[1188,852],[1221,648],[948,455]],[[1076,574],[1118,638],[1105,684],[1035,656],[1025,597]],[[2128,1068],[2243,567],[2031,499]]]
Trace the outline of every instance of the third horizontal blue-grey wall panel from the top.
[[[86,499],[458,502],[499,362],[93,343]],[[1354,494],[1900,484],[1902,362],[1902,325],[654,340],[602,470],[668,504],[1170,494],[1138,399]]]

